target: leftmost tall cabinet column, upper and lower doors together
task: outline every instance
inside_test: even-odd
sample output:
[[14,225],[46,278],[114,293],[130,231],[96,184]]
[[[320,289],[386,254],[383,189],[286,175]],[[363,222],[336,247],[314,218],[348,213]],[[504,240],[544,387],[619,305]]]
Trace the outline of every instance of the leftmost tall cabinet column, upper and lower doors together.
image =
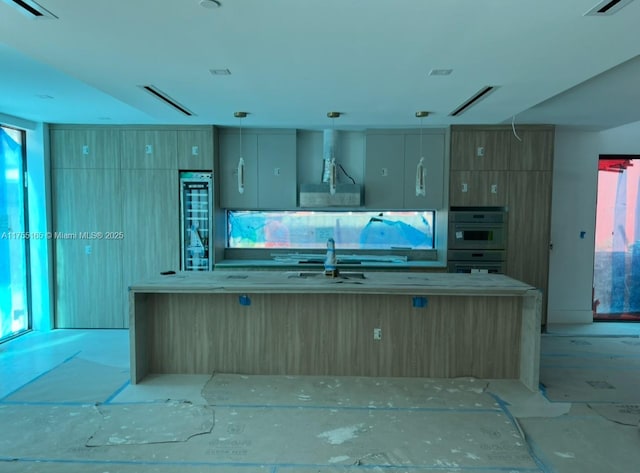
[[119,131],[50,133],[56,327],[124,327]]

